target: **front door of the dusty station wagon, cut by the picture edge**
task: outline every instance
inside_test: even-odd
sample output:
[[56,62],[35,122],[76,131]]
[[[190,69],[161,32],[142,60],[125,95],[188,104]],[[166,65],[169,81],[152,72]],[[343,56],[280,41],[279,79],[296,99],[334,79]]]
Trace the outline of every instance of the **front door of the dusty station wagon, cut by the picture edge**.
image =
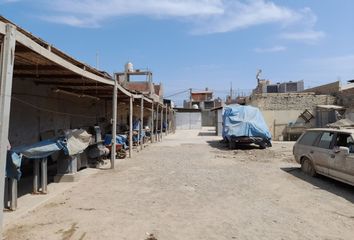
[[351,134],[338,133],[334,143],[335,148],[348,147],[349,155],[343,152],[334,153],[331,161],[329,175],[354,185],[354,139]]

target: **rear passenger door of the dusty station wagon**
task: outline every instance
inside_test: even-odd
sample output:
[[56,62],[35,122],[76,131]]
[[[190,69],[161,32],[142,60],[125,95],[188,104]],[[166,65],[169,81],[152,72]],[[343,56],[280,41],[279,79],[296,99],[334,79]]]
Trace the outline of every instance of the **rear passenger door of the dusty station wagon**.
[[313,150],[310,151],[315,169],[324,175],[329,174],[329,166],[333,155],[333,139],[334,133],[330,131],[323,132],[317,140]]

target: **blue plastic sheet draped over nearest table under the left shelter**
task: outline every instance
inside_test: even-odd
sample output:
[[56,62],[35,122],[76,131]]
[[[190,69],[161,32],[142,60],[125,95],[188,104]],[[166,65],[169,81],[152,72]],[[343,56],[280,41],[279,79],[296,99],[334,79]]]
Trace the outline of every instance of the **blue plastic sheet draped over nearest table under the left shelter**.
[[68,149],[66,147],[65,141],[57,139],[49,139],[37,142],[28,146],[19,146],[12,148],[13,152],[22,154],[29,159],[46,158],[52,155],[54,152],[64,150],[67,154]]

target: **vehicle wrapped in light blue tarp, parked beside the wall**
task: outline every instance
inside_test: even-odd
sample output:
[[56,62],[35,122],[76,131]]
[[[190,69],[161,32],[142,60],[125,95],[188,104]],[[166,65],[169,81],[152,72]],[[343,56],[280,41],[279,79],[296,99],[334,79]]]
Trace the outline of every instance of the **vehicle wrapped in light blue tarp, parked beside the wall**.
[[223,110],[223,138],[230,148],[255,143],[271,147],[271,134],[260,110],[252,106],[228,105]]

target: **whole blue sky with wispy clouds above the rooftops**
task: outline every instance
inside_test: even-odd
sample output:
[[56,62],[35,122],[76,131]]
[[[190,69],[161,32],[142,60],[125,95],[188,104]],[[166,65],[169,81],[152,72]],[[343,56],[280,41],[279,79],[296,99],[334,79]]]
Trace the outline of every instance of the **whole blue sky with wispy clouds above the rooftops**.
[[[257,69],[305,87],[354,79],[352,0],[0,0],[0,14],[107,72],[149,68],[165,95],[247,92]],[[175,97],[177,102],[186,95]]]

